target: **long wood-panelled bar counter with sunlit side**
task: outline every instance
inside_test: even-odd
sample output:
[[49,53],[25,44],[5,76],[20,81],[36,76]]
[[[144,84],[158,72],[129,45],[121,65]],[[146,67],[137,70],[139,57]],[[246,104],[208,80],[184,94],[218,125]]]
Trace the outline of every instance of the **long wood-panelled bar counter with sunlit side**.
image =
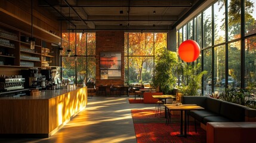
[[0,98],[0,137],[48,138],[87,105],[87,87]]

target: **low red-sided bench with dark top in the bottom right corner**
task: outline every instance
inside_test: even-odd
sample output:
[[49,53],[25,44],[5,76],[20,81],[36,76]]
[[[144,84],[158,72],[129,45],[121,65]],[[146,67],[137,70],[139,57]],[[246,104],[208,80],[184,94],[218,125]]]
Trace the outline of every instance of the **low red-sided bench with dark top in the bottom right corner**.
[[207,143],[255,142],[256,122],[208,122]]

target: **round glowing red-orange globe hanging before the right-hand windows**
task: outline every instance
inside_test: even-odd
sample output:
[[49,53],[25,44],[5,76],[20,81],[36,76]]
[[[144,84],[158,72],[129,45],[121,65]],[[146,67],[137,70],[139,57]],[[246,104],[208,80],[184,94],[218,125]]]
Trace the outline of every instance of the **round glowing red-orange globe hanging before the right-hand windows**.
[[196,41],[187,40],[178,47],[178,55],[187,63],[195,61],[200,54],[200,47]]

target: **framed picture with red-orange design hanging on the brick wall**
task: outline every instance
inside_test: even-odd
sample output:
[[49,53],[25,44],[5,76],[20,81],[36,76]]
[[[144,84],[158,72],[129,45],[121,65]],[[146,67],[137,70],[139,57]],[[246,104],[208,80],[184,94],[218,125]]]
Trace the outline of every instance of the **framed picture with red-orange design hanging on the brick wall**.
[[121,52],[100,52],[100,79],[121,79]]

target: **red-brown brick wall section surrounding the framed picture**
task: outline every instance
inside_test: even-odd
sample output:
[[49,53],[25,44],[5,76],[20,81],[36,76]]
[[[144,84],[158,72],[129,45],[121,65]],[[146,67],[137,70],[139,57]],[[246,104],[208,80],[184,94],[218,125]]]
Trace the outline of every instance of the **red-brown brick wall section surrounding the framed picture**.
[[[121,79],[100,79],[100,52],[121,52],[122,73]],[[99,31],[96,32],[96,86],[99,85],[124,85],[124,32]]]

